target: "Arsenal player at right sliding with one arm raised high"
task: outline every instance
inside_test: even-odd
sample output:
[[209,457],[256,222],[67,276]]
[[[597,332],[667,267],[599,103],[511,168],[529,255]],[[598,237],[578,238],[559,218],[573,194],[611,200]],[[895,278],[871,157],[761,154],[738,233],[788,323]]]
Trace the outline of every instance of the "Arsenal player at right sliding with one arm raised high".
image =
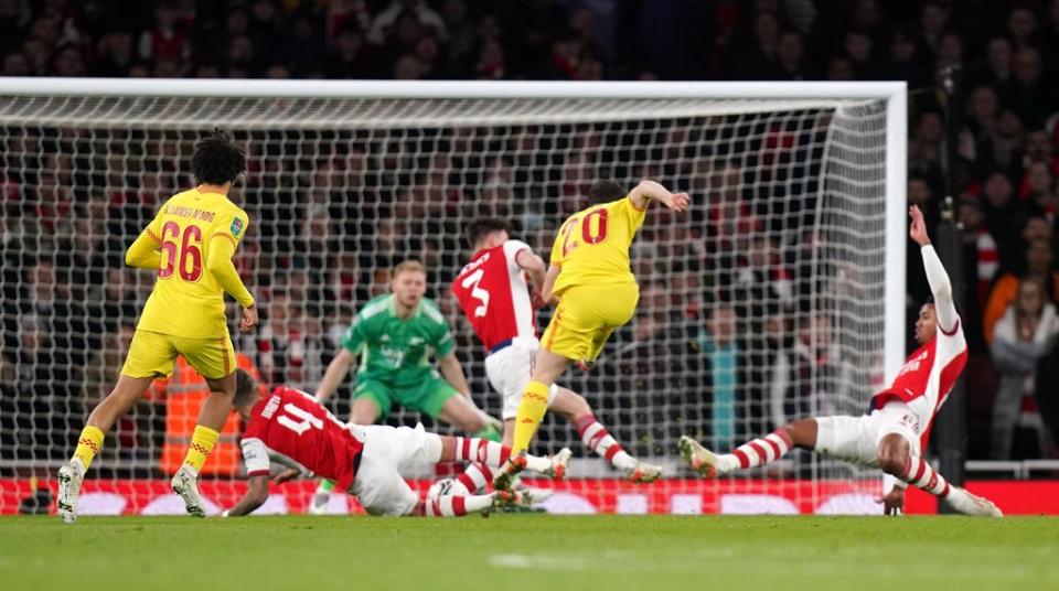
[[933,302],[923,304],[916,322],[920,347],[905,362],[894,384],[871,398],[869,413],[798,420],[724,454],[713,453],[685,436],[681,438],[681,453],[694,470],[714,477],[773,462],[796,447],[880,468],[897,479],[880,499],[887,514],[903,511],[905,486],[911,484],[944,498],[960,513],[1001,516],[992,502],[950,485],[922,458],[931,423],[966,363],[967,344],[949,276],[930,245],[923,214],[912,206],[909,215],[909,234],[921,247]]

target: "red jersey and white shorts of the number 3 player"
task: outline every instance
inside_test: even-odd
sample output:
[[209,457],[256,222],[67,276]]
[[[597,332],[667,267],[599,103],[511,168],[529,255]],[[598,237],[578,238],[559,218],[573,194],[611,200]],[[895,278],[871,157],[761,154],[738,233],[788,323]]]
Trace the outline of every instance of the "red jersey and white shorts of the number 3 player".
[[[489,351],[485,375],[503,396],[504,420],[515,418],[541,347],[530,286],[515,260],[523,250],[531,248],[521,240],[479,250],[452,281],[452,293]],[[557,391],[553,385],[548,406]]]

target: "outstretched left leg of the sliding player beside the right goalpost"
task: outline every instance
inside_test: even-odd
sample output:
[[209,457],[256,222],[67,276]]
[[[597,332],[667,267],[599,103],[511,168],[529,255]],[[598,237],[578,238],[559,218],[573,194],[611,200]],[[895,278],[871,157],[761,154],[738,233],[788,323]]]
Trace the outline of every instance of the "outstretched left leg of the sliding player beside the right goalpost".
[[680,441],[681,455],[703,477],[719,476],[774,462],[792,448],[816,450],[821,421],[835,419],[855,420],[853,417],[825,417],[790,422],[764,437],[739,445],[731,453],[714,453],[694,439],[684,436]]

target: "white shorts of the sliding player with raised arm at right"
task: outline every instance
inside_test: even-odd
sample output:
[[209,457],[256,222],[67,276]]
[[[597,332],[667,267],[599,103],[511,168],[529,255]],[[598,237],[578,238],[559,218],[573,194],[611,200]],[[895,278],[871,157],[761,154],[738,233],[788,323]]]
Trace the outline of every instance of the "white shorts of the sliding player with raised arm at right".
[[891,400],[860,417],[816,419],[816,450],[847,462],[878,468],[879,442],[890,433],[908,440],[912,455],[920,455],[919,420],[905,402]]

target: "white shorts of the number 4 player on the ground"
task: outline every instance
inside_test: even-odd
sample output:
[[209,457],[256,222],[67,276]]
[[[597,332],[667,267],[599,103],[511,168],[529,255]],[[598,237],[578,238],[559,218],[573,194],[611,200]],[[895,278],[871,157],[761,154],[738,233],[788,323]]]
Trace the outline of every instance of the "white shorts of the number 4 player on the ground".
[[408,515],[419,495],[400,475],[432,466],[441,459],[441,438],[422,425],[415,429],[385,425],[350,426],[364,441],[361,468],[350,491],[370,515]]

